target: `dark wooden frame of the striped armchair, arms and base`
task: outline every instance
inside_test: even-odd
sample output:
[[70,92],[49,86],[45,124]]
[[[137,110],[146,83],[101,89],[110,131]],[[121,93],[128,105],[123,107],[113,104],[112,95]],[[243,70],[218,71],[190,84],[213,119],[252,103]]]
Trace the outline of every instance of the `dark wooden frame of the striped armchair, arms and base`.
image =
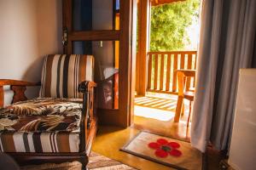
[[[40,82],[23,82],[18,80],[0,79],[0,107],[4,104],[3,86],[10,86],[14,91],[12,103],[26,100],[26,87],[40,86]],[[12,156],[20,165],[41,164],[41,163],[61,163],[64,161],[80,161],[83,169],[86,169],[90,154],[92,140],[96,135],[96,109],[95,82],[80,82],[79,92],[83,93],[83,109],[80,122],[79,152],[77,153],[26,153],[26,152],[6,152]]]

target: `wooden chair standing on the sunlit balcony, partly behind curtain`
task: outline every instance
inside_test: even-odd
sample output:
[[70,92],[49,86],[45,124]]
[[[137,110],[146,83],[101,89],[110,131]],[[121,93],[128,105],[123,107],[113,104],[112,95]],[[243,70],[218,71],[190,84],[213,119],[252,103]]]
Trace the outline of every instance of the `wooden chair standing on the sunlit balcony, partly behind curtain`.
[[177,97],[177,106],[174,117],[174,122],[179,122],[180,115],[183,108],[183,99],[189,100],[189,116],[187,127],[189,127],[190,115],[192,102],[194,101],[195,90],[189,89],[187,82],[189,78],[194,77],[195,80],[195,70],[177,70],[177,85],[178,85],[178,97]]

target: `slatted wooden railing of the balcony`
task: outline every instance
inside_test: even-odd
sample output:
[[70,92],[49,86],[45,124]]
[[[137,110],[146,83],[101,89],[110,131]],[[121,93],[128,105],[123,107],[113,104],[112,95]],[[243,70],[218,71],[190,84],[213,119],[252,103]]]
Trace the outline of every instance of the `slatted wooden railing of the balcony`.
[[[177,69],[195,69],[196,51],[148,52],[148,92],[177,94]],[[186,88],[195,87],[194,79]]]

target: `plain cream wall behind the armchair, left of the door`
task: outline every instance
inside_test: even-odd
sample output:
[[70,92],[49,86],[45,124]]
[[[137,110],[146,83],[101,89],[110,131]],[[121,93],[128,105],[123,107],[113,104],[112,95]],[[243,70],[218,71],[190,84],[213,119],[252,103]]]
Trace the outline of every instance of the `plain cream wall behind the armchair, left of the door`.
[[0,24],[0,79],[39,82],[43,56],[61,53],[61,0],[0,0]]

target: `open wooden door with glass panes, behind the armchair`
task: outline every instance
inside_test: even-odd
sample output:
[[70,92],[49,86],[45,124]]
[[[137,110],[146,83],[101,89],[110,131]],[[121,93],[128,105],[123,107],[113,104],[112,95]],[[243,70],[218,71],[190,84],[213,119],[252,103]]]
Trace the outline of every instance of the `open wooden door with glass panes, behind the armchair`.
[[101,124],[131,125],[133,7],[136,0],[63,0],[63,51],[94,55]]

